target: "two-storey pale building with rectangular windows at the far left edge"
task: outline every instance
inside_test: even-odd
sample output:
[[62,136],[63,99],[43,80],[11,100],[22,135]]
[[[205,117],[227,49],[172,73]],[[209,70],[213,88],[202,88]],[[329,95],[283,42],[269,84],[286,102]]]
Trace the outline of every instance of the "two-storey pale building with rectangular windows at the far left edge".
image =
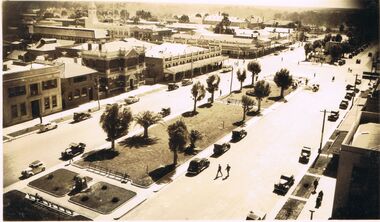
[[61,111],[61,72],[62,66],[4,62],[3,125]]

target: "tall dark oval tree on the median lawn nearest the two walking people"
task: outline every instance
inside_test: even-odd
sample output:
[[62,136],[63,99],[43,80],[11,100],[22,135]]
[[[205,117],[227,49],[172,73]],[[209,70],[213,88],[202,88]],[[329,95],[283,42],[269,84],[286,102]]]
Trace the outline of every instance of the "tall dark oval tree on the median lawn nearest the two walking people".
[[168,126],[169,134],[169,149],[173,152],[173,164],[178,163],[178,151],[182,151],[186,145],[189,132],[183,120],[177,120],[175,123]]

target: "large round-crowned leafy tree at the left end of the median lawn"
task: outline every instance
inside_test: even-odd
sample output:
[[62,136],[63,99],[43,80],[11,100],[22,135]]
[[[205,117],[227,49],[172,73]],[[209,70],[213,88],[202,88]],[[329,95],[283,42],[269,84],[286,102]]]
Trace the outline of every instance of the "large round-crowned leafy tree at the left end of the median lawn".
[[100,125],[111,140],[112,149],[115,149],[115,139],[128,133],[129,124],[132,120],[132,112],[129,107],[123,107],[117,103],[107,107],[100,116]]

